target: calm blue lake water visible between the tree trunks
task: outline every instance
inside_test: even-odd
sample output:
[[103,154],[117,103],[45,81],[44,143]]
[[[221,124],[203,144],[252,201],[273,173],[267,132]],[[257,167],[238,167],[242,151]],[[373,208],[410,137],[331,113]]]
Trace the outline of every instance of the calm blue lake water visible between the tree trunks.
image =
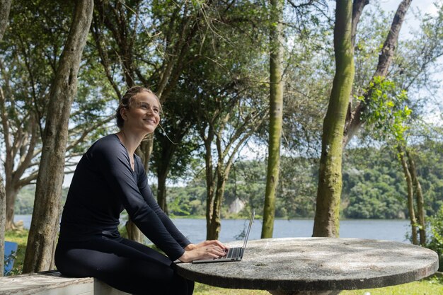
[[[31,215],[16,215],[14,221],[23,220],[25,229],[29,229]],[[192,243],[204,241],[206,238],[206,219],[172,219],[178,229]],[[236,241],[246,231],[248,220],[224,219],[219,240]],[[250,240],[260,238],[262,221],[255,219],[250,233]],[[310,237],[312,236],[313,220],[311,219],[276,219],[274,238]],[[340,221],[341,238],[373,238],[409,243],[405,238],[410,233],[409,221],[404,219],[346,219]]]

